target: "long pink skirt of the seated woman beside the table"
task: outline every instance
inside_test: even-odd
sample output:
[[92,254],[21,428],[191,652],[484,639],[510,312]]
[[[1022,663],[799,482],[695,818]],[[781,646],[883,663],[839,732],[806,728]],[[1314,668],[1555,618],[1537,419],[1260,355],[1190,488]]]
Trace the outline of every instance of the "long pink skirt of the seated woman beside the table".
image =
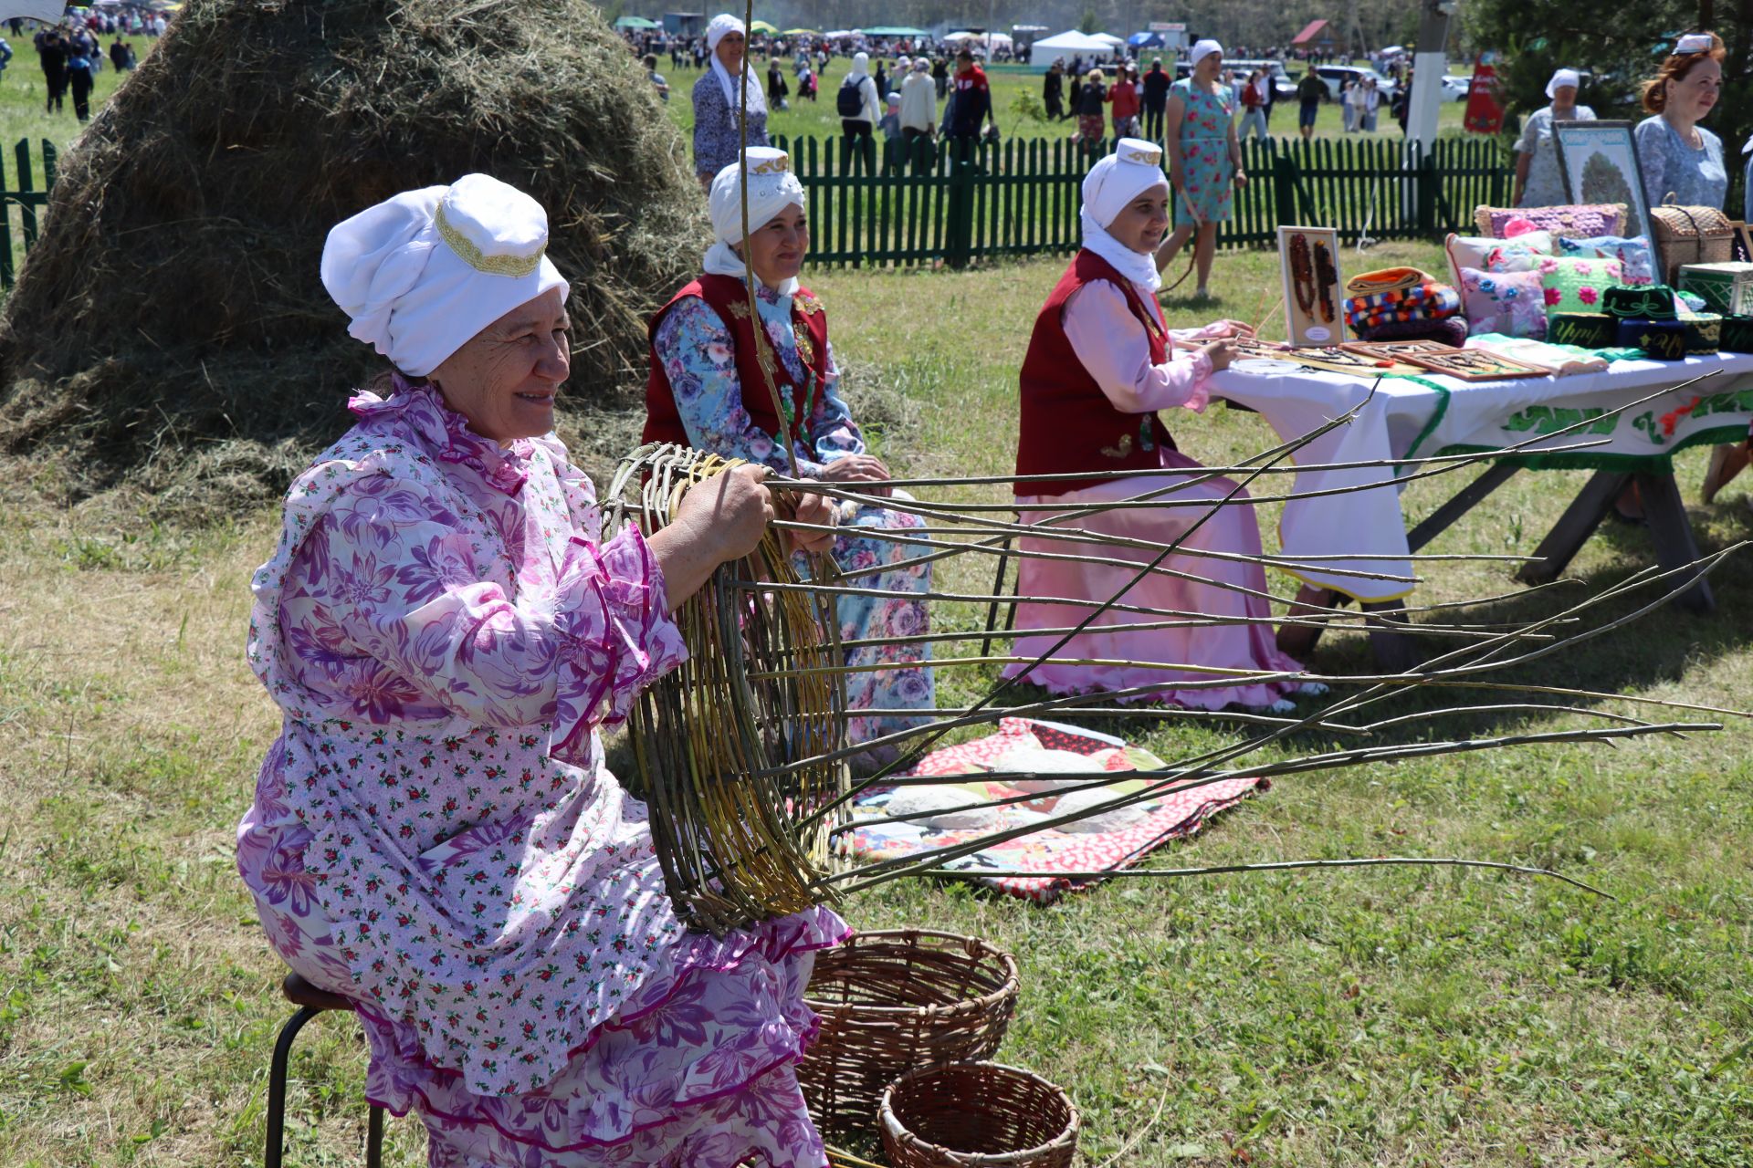
[[[1162,452],[1162,466],[1187,471],[1201,469],[1197,462],[1175,450]],[[1173,482],[1180,480],[1176,476],[1124,478],[1059,496],[1018,496],[1017,503],[1054,503],[1075,510],[1090,503],[1129,499]],[[1234,487],[1225,478],[1211,478],[1162,497],[1175,503],[1185,499],[1217,503]],[[1171,543],[1199,524],[1197,531],[1192,531],[1182,543],[1187,552],[1260,555],[1260,525],[1255,520],[1253,504],[1246,499],[1246,492],[1239,492],[1232,503],[1220,508],[1118,508],[1055,525]],[[1022,522],[1040,524],[1054,515],[1055,511],[1024,511]],[[1204,522],[1201,524],[1201,520]],[[1273,641],[1266,569],[1259,564],[1175,553],[1159,564],[1159,571],[1127,588],[1127,581],[1138,574],[1138,569],[1157,557],[1155,550],[1034,536],[1024,536],[1020,546],[1026,552],[1092,555],[1124,564],[1024,559],[1018,569],[1018,595],[1106,601],[1125,588],[1118,602],[1171,609],[1185,615],[1187,620],[1187,623],[1169,623],[1159,629],[1129,629],[1127,625],[1176,622],[1180,618],[1166,613],[1106,611],[1052,658],[1029,671],[1026,681],[1054,693],[1152,686],[1145,693],[1124,695],[1120,700],[1166,700],[1194,709],[1222,709],[1231,704],[1271,706],[1295,690],[1297,683],[1287,679],[1241,676],[1225,681],[1222,672],[1297,672],[1302,669],[1295,660],[1280,653]],[[1031,636],[1031,629],[1069,629],[1089,615],[1090,608],[1085,606],[1018,602],[1017,641],[1011,655],[1029,660],[1040,657],[1064,634]],[[1246,618],[1248,623],[1194,623],[1206,618]],[[1071,664],[1075,660],[1104,664]],[[1026,669],[1024,664],[1011,664],[1004,667],[1004,676],[1013,678]]]

